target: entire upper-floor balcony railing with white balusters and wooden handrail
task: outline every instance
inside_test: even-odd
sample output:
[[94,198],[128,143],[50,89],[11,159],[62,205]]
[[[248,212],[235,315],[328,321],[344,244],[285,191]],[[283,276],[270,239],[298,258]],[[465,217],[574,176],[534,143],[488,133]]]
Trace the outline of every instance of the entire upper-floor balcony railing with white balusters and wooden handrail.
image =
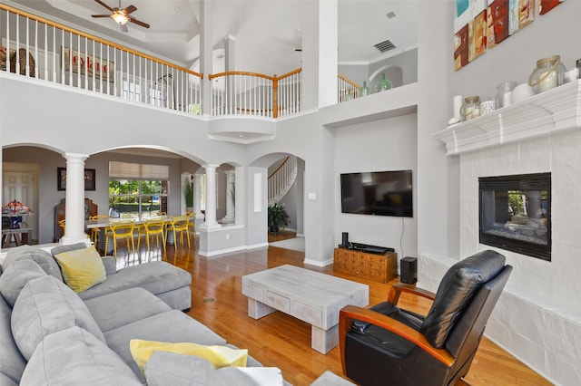
[[[202,113],[203,75],[0,4],[0,71],[98,92],[172,111]],[[302,110],[302,70],[281,76],[222,72],[212,82],[210,114],[280,118]],[[359,85],[338,76],[338,101]]]

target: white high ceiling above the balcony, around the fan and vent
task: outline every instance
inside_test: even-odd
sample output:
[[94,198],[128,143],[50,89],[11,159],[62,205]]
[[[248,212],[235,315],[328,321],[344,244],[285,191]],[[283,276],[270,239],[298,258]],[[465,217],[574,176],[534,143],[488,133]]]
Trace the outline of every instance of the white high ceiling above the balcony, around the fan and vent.
[[[119,0],[102,0],[113,7]],[[314,0],[303,0],[306,2]],[[321,0],[326,1],[326,0]],[[372,63],[415,47],[418,40],[417,1],[338,0],[340,63]],[[121,32],[111,18],[91,14],[108,11],[94,0],[6,0],[34,14],[63,24],[74,24],[101,37],[153,53],[199,71],[198,0],[122,0],[121,7],[134,5],[131,14],[150,24],[145,29],[127,24]],[[291,72],[300,67],[301,48],[299,0],[213,0],[214,64],[212,72],[224,71],[224,41],[235,44],[235,70],[268,75]],[[393,18],[386,14],[394,12]],[[396,49],[380,53],[374,44],[390,40]]]

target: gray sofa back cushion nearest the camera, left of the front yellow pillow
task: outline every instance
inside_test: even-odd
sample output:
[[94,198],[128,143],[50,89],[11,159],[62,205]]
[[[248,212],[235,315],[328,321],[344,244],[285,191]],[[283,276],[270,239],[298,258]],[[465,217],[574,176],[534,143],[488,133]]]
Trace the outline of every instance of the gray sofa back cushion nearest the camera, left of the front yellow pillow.
[[21,385],[142,385],[109,347],[79,327],[46,335]]

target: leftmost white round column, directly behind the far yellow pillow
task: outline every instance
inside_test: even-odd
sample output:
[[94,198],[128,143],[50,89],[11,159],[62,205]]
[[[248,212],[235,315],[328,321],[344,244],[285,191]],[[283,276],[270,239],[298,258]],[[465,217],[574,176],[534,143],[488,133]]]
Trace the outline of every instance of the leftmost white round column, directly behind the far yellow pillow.
[[74,244],[80,241],[90,244],[84,234],[84,160],[89,156],[77,153],[65,153],[66,159],[66,194],[64,207],[64,236],[61,244]]

